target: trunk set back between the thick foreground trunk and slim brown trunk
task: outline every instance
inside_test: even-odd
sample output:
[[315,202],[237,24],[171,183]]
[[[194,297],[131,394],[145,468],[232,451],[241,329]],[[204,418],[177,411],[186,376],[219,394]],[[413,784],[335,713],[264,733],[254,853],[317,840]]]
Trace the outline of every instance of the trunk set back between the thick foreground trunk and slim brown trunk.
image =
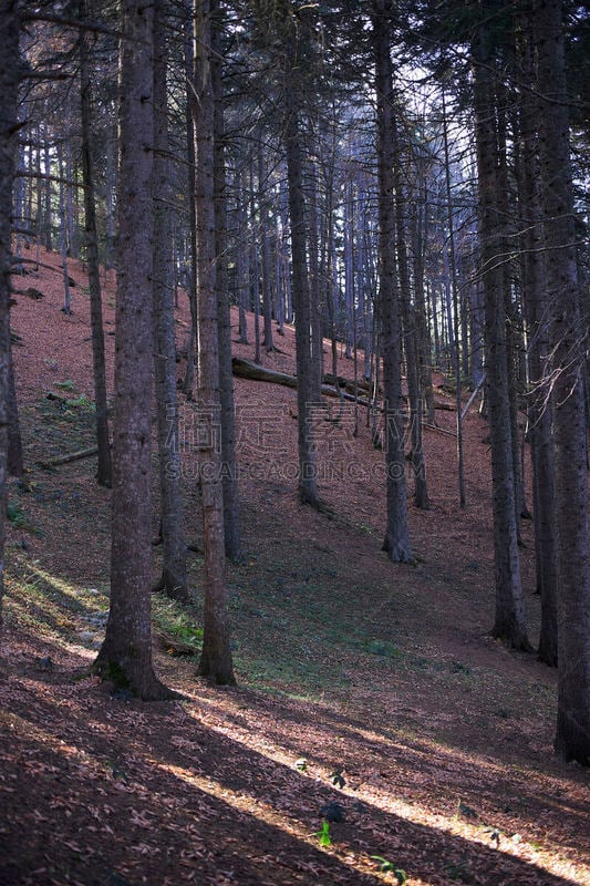
[[156,381],[162,576],[157,589],[189,602],[180,491],[182,463],[176,393],[176,342],[172,287],[172,195],[169,187],[166,23],[164,0],[154,0],[154,369]]

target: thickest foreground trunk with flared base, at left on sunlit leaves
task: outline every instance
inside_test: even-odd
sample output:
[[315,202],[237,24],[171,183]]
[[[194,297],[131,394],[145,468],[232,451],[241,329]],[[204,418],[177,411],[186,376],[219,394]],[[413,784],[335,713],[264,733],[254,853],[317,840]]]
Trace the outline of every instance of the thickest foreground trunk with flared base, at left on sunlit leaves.
[[122,0],[111,609],[94,670],[145,700],[152,666],[153,7]]

